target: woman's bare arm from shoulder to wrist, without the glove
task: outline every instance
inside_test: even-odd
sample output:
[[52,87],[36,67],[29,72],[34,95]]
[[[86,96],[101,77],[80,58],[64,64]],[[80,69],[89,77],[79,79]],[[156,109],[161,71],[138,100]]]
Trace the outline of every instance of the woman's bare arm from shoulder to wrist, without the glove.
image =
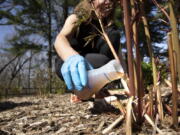
[[78,18],[75,14],[70,15],[61,30],[61,32],[57,35],[54,47],[56,49],[56,52],[58,55],[65,61],[68,57],[72,55],[78,54],[77,51],[75,51],[68,39],[74,34],[74,31],[77,28],[77,22]]

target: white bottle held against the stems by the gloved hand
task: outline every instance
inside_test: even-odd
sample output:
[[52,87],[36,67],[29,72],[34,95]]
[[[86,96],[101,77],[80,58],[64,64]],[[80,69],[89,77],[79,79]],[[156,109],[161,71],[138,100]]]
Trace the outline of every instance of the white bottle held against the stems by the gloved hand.
[[120,63],[116,60],[111,60],[100,68],[89,70],[88,86],[82,91],[74,90],[74,94],[76,94],[80,99],[89,99],[107,83],[120,79],[123,76],[124,70]]

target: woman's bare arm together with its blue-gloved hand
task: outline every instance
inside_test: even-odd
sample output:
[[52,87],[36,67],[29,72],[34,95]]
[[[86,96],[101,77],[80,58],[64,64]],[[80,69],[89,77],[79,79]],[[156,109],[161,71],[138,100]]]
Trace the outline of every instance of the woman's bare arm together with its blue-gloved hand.
[[76,31],[78,18],[70,15],[58,34],[55,49],[64,61],[60,71],[69,90],[82,90],[88,83],[87,71],[93,69],[90,63],[75,51],[68,40]]

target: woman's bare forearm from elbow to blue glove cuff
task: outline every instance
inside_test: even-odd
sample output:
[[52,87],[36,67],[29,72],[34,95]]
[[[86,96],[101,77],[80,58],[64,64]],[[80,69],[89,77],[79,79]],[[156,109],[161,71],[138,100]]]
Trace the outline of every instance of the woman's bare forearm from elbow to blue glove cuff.
[[63,60],[66,60],[69,56],[78,54],[78,52],[71,47],[68,39],[64,35],[59,34],[57,36],[54,46],[56,52]]

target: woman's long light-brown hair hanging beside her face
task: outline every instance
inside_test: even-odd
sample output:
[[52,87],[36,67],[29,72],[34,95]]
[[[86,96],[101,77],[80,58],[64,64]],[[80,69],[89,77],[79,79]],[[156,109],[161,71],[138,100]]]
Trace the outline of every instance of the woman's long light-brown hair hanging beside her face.
[[[74,9],[74,13],[80,18],[83,22],[89,23],[92,19],[97,19],[93,7],[92,1],[94,0],[82,0]],[[115,0],[113,0],[114,2]],[[115,3],[113,4],[115,6]],[[114,10],[106,17],[106,21],[110,22],[114,17]]]

